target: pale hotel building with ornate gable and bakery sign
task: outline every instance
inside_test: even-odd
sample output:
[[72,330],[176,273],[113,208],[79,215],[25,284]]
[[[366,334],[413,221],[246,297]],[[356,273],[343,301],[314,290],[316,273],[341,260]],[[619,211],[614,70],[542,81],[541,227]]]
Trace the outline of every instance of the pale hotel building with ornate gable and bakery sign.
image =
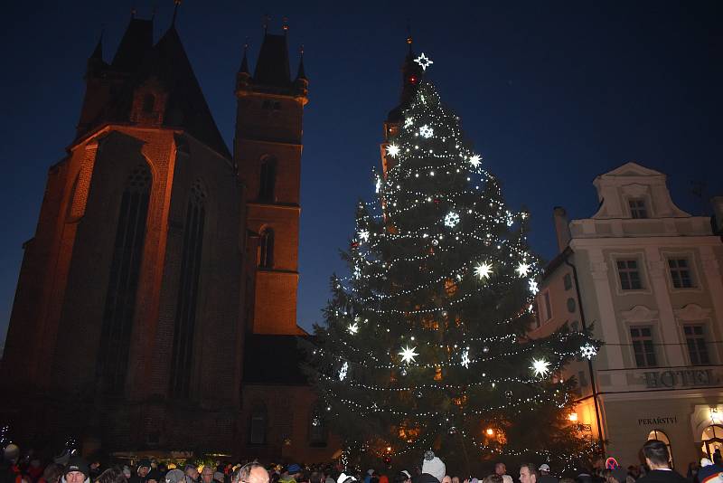
[[560,253],[529,336],[593,327],[605,346],[566,369],[580,385],[570,419],[624,465],[663,440],[684,473],[723,448],[723,242],[673,204],[662,173],[627,163],[594,185],[591,218],[556,208]]

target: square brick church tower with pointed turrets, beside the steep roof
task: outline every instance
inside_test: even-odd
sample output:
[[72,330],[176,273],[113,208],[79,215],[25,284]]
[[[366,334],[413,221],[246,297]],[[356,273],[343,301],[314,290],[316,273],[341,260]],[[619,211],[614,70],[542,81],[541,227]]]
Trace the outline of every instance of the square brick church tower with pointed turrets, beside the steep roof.
[[302,119],[308,101],[304,58],[291,79],[288,27],[264,33],[253,76],[247,52],[236,81],[234,161],[246,186],[246,328],[302,335],[296,326]]

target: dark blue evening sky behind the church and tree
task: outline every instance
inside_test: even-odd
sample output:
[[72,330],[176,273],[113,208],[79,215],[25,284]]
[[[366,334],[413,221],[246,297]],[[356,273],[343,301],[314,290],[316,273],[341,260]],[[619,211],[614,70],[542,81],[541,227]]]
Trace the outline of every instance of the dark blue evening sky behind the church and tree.
[[[171,0],[153,5],[156,38]],[[509,204],[532,213],[531,242],[555,253],[551,211],[595,212],[596,175],[626,161],[669,175],[674,201],[700,213],[690,194],[723,194],[723,3],[668,1],[200,2],[187,0],[177,27],[211,111],[230,146],[234,75],[244,38],[253,66],[261,19],[281,17],[289,47],[305,44],[310,102],[302,158],[298,320],[322,319],[328,278],[343,271],[353,207],[373,193],[381,124],[396,105],[408,19],[415,49],[435,62],[428,77],[463,120]],[[483,4],[483,5],[479,5]],[[115,52],[132,2],[20,2],[4,6],[0,52],[3,236],[0,340],[23,251],[33,236],[49,166],[74,134],[82,74],[101,24]],[[298,55],[292,55],[296,72]]]

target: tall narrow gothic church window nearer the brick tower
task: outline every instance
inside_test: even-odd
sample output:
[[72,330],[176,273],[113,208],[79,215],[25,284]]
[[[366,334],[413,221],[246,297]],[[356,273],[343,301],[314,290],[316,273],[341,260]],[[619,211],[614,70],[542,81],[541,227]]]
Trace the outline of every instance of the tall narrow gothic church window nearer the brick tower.
[[200,181],[193,183],[183,224],[181,280],[175,311],[174,346],[171,362],[171,393],[188,397],[191,388],[193,335],[199,298],[199,275],[206,218],[206,194]]

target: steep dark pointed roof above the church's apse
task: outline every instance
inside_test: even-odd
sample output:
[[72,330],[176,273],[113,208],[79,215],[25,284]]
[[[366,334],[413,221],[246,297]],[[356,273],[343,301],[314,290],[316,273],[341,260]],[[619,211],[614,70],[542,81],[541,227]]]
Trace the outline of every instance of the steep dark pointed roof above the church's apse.
[[230,157],[174,25],[155,45],[152,33],[152,21],[131,19],[109,67],[112,76],[125,80],[89,128],[108,122],[129,122],[136,89],[155,79],[167,94],[163,125],[182,128],[221,155]]

